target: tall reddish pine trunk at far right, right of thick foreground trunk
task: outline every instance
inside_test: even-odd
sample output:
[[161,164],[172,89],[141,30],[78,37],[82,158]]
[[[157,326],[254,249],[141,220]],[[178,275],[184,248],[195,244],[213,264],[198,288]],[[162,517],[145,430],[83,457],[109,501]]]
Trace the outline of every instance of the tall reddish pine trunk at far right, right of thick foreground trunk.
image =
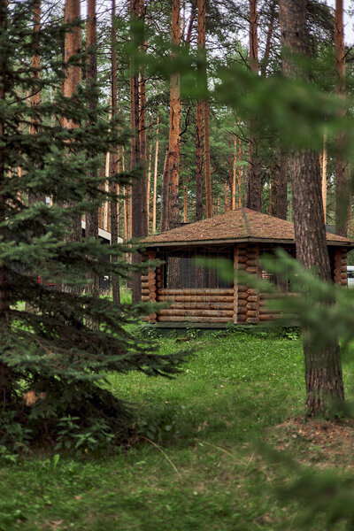
[[[345,118],[345,49],[343,28],[343,2],[335,0],[335,94],[342,98],[340,117]],[[338,133],[335,138],[335,234],[346,236],[348,231],[349,188],[347,162],[343,158],[345,135]]]

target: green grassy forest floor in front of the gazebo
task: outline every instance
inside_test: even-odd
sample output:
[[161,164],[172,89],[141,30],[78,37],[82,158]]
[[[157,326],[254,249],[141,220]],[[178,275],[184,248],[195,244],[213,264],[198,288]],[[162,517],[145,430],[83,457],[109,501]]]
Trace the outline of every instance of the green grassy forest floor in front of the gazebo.
[[[304,467],[312,479],[330,471],[354,476],[350,424],[304,424],[301,338],[189,331],[158,342],[163,352],[193,352],[175,380],[110,378],[112,390],[135,404],[140,441],[98,457],[3,462],[0,530],[326,528],[324,512],[300,521],[303,501],[280,494]],[[353,354],[343,359],[347,390]]]

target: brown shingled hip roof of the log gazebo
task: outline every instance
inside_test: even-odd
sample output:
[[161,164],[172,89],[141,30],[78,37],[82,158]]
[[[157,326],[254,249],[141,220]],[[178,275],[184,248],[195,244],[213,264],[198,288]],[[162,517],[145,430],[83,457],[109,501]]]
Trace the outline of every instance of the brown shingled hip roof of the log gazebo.
[[[175,247],[217,242],[294,243],[294,224],[261,212],[240,208],[209,219],[167,230],[142,239],[145,247]],[[353,247],[354,241],[327,233],[329,245]]]

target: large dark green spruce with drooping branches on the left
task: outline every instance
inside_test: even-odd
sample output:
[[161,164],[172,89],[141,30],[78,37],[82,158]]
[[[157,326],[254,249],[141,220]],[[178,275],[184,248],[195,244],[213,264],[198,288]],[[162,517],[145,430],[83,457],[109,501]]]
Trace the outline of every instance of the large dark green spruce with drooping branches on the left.
[[[34,31],[35,2],[0,0],[0,408],[33,439],[55,441],[60,419],[70,415],[83,429],[104,422],[121,441],[127,412],[104,389],[104,375],[170,375],[181,358],[159,357],[127,333],[123,326],[142,305],[76,289],[92,275],[125,275],[132,267],[118,244],[70,237],[74,220],[107,199],[97,168],[127,134],[104,119],[107,109],[87,104],[98,95],[93,82],[61,94],[67,65],[55,50],[78,21]],[[69,63],[82,61],[77,55]],[[35,91],[42,102],[31,106]],[[77,127],[63,127],[65,120]],[[110,255],[118,261],[107,261]]]

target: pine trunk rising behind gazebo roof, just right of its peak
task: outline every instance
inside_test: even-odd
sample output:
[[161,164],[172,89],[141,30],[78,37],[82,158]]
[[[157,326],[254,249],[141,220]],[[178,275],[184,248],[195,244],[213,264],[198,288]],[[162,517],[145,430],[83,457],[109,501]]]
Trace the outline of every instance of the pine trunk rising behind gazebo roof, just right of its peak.
[[[257,0],[250,0],[250,70],[256,75],[258,75],[259,69],[257,27]],[[247,182],[246,206],[260,212],[262,207],[262,181],[257,128],[257,119],[250,119],[249,180]]]

